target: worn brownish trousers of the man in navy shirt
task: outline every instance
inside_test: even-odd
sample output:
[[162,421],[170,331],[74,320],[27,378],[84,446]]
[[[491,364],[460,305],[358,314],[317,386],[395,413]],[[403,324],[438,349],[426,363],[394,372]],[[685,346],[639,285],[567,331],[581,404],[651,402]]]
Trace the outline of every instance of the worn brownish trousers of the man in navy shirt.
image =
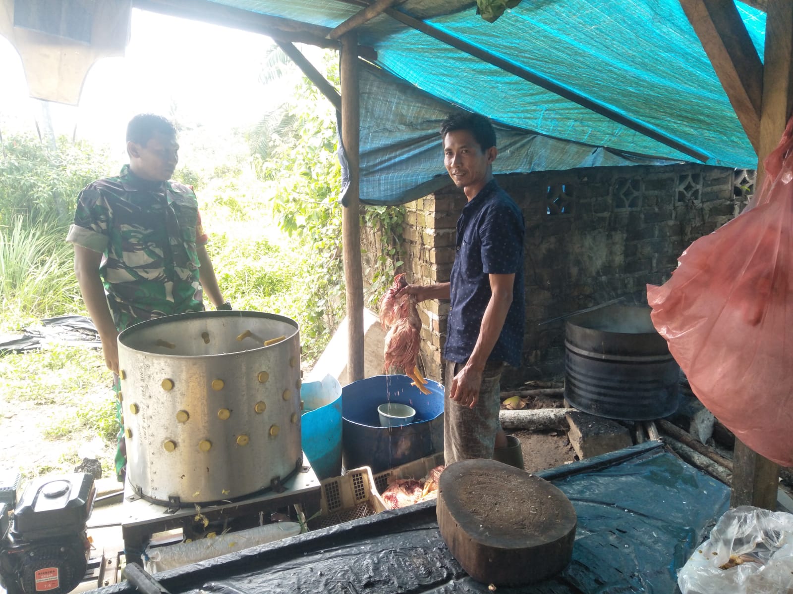
[[502,361],[488,361],[482,372],[479,401],[473,409],[449,398],[454,375],[465,367],[463,363],[446,361],[443,386],[443,457],[445,463],[458,460],[493,457],[498,420],[501,409],[500,381],[504,369]]

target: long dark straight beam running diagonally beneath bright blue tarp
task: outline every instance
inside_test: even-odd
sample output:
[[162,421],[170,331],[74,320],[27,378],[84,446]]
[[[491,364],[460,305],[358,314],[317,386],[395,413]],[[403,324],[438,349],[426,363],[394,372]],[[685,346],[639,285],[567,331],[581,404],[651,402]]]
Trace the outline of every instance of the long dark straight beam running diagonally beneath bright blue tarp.
[[[732,0],[730,0],[730,2],[732,2]],[[485,51],[476,45],[469,44],[467,41],[458,39],[449,33],[441,31],[440,29],[436,29],[434,26],[425,21],[421,21],[406,13],[400,12],[399,10],[389,8],[385,10],[385,13],[387,13],[389,17],[400,21],[400,23],[408,25],[408,27],[412,27],[417,31],[423,32],[425,35],[431,36],[446,45],[450,45],[452,48],[456,48],[460,51],[464,51],[466,54],[473,55],[475,58],[481,59],[483,62],[491,64],[492,66],[500,68],[501,70],[509,72],[510,74],[514,74],[519,78],[523,78],[523,80],[542,87],[542,89],[546,89],[551,93],[555,93],[559,97],[564,97],[569,101],[573,101],[573,103],[577,103],[577,105],[580,105],[581,107],[589,109],[592,112],[596,112],[601,116],[607,117],[609,120],[615,121],[617,124],[622,124],[626,128],[630,128],[631,130],[637,131],[639,134],[645,135],[648,138],[657,140],[659,143],[665,144],[667,147],[671,147],[672,149],[680,151],[683,154],[688,154],[690,157],[695,158],[698,161],[707,162],[707,154],[702,153],[695,147],[691,147],[691,145],[687,143],[665,135],[661,131],[650,128],[648,125],[643,124],[638,120],[634,120],[623,113],[617,112],[605,105],[601,105],[596,101],[592,101],[592,99],[584,97],[584,95],[580,95],[572,89],[567,89],[564,86],[558,85],[557,83],[549,80],[548,78],[542,77],[531,70],[527,70],[518,64],[500,58],[499,56],[494,55],[489,51]]]

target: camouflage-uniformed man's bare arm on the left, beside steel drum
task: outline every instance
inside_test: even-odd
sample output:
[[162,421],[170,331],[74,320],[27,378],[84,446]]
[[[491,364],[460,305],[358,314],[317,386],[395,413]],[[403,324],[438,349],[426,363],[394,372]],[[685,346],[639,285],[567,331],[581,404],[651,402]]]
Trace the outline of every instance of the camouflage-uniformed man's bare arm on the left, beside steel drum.
[[75,244],[75,276],[80,286],[82,300],[102,341],[105,364],[113,373],[118,373],[118,330],[113,323],[105,297],[105,287],[99,276],[102,253]]

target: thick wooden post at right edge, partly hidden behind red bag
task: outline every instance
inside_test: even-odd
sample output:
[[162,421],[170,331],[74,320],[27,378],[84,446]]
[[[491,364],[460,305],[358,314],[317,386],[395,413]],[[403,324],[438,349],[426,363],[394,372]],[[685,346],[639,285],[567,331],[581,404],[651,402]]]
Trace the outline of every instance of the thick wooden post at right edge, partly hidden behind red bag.
[[[766,2],[763,107],[760,114],[760,150],[757,183],[764,177],[763,160],[776,148],[793,105],[793,2]],[[780,329],[780,332],[784,332]],[[735,440],[733,491],[730,505],[754,505],[776,510],[780,467]]]

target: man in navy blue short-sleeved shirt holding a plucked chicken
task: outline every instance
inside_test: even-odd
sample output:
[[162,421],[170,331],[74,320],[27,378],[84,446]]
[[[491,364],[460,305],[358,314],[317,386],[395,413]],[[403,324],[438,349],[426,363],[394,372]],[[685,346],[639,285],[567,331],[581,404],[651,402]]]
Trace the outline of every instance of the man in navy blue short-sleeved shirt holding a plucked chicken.
[[449,283],[408,285],[425,299],[451,299],[446,344],[446,464],[492,458],[505,447],[499,383],[504,364],[519,366],[523,349],[523,215],[492,174],[496,133],[485,116],[455,113],[441,126],[446,171],[468,204],[457,223]]

